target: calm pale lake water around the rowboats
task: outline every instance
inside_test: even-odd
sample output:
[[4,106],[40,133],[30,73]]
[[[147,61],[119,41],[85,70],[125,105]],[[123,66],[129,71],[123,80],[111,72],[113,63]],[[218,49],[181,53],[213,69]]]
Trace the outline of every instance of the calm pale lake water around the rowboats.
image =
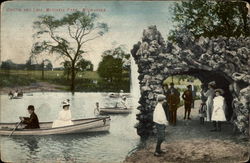
[[[33,93],[23,99],[9,100],[1,95],[1,122],[18,122],[29,116],[27,106],[33,104],[39,120],[53,121],[61,110],[61,102],[70,99],[72,119],[94,117],[95,102],[101,107],[114,106],[117,99],[107,93]],[[133,107],[129,115],[111,116],[109,133],[54,136],[1,137],[1,158],[7,162],[122,162],[137,147],[139,137],[134,125],[137,100],[129,98]]]

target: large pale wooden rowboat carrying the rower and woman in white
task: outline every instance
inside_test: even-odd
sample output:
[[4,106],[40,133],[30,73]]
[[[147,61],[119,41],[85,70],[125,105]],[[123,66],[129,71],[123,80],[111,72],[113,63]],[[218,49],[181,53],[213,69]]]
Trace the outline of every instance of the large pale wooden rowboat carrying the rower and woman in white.
[[[13,132],[12,135],[62,135],[74,133],[107,132],[110,128],[110,117],[87,118],[73,120],[74,125],[52,128],[53,122],[41,122],[40,129],[24,129],[24,124]],[[16,123],[0,123],[0,135],[10,135]]]

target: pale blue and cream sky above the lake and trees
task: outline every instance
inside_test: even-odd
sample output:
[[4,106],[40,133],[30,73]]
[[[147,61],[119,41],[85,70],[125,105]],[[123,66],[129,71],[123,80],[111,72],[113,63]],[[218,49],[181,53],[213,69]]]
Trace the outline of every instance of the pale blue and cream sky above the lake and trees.
[[[166,39],[173,28],[172,12],[175,2],[171,1],[8,1],[1,7],[1,61],[11,59],[15,63],[25,63],[33,43],[33,22],[40,15],[52,15],[56,18],[75,10],[98,9],[98,22],[105,22],[109,31],[104,36],[88,42],[83,48],[87,53],[83,57],[90,60],[97,69],[103,51],[119,45],[125,45],[130,52],[133,45],[141,41],[143,29],[156,25]],[[45,56],[59,67],[62,59]]]

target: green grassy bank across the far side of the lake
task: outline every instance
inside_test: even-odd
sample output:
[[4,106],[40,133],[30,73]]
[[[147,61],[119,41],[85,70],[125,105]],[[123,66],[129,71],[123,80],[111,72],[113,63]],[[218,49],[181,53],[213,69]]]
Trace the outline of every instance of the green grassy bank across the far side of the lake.
[[[65,86],[65,91],[70,90],[70,80],[63,71],[38,70],[0,70],[0,87],[18,87],[34,85],[38,82],[48,82],[55,85]],[[130,79],[123,78],[121,81],[108,82],[102,79],[96,71],[79,72],[76,76],[76,91],[84,92],[118,92],[123,89],[130,91]]]

